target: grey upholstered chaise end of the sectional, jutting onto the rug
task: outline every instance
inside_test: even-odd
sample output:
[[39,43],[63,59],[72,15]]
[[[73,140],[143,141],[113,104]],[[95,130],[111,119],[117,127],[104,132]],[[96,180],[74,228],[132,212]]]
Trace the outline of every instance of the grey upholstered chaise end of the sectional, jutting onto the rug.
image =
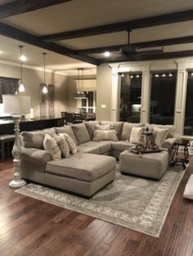
[[91,197],[115,177],[116,160],[111,156],[77,153],[47,163],[44,182],[65,191]]

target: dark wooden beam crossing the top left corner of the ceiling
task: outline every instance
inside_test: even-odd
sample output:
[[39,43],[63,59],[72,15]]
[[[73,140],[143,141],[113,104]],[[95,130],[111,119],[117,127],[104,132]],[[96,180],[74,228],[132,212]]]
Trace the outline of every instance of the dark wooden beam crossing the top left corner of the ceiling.
[[0,19],[70,1],[72,0],[16,0],[8,2],[0,6]]

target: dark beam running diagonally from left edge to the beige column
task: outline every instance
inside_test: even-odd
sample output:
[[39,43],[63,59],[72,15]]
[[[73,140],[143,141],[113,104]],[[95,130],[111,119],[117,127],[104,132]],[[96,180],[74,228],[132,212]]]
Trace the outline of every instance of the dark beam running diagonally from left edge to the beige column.
[[41,47],[51,52],[56,52],[64,56],[69,56],[79,61],[88,62],[93,65],[99,65],[99,61],[92,58],[91,56],[85,56],[83,54],[77,54],[73,50],[63,47],[56,43],[47,43],[41,41],[38,37],[34,36],[33,34],[26,33],[20,29],[16,29],[11,27],[10,25],[5,25],[0,23],[0,34],[6,36],[7,38],[13,38],[19,40],[24,43],[29,43],[36,47]]

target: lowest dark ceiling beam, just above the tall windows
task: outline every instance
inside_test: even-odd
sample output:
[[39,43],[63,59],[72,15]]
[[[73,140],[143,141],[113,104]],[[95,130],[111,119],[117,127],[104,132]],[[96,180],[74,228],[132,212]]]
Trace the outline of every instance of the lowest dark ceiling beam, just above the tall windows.
[[181,51],[181,52],[164,52],[155,54],[133,54],[131,56],[121,56],[119,58],[109,58],[100,59],[100,63],[115,63],[115,62],[125,62],[125,61],[154,61],[154,60],[164,60],[182,57],[193,56],[193,51]]

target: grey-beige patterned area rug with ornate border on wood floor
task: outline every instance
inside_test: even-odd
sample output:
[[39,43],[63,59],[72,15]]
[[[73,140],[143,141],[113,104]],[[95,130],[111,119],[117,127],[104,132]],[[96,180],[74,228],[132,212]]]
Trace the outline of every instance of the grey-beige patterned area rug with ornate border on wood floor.
[[29,183],[16,192],[65,209],[159,237],[165,218],[186,170],[175,166],[159,181],[119,173],[92,199]]

